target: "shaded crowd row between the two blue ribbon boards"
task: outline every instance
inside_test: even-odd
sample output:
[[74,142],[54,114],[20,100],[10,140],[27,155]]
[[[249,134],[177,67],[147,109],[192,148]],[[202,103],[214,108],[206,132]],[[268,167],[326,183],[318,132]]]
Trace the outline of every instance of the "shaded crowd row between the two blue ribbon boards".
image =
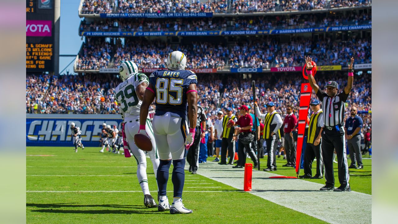
[[190,20],[162,19],[106,19],[87,22],[83,20],[80,31],[203,31],[203,30],[261,30],[297,29],[312,27],[370,24],[371,13],[356,14],[301,14],[290,16],[201,18]]

